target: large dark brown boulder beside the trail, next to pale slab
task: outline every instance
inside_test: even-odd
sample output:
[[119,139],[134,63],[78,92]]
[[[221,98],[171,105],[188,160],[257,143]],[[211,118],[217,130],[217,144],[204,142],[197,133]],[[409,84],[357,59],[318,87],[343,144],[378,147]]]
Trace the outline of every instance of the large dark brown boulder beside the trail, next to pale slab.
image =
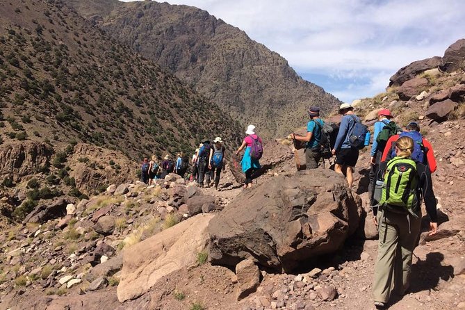
[[361,200],[332,170],[279,176],[240,193],[209,225],[211,263],[243,259],[281,271],[338,250],[359,225]]

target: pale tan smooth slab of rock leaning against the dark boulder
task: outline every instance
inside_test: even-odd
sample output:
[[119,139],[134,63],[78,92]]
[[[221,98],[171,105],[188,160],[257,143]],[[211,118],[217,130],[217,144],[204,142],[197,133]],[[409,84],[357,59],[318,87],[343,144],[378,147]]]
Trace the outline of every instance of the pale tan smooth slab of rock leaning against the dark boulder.
[[199,214],[161,231],[123,252],[121,281],[117,287],[120,302],[146,293],[161,277],[181,268],[195,266],[197,253],[209,240],[206,227],[213,214]]

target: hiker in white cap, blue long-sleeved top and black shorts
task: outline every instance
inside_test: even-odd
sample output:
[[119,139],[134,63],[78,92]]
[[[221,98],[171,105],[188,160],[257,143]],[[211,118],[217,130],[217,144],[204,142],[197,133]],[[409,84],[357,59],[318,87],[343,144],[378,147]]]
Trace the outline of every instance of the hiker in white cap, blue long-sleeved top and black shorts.
[[339,132],[334,143],[332,154],[336,155],[336,164],[334,171],[344,174],[349,187],[352,188],[354,181],[353,173],[354,167],[359,160],[359,149],[352,147],[350,144],[350,136],[357,122],[360,122],[359,117],[355,115],[354,108],[350,104],[341,104],[339,107],[339,114],[342,114],[341,125]]

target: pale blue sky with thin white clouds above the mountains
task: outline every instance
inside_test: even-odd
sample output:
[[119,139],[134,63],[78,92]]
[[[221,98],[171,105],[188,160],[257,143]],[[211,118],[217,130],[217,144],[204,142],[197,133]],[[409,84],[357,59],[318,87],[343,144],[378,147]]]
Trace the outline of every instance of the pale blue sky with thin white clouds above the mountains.
[[208,11],[345,102],[384,92],[415,60],[465,38],[463,0],[168,0]]

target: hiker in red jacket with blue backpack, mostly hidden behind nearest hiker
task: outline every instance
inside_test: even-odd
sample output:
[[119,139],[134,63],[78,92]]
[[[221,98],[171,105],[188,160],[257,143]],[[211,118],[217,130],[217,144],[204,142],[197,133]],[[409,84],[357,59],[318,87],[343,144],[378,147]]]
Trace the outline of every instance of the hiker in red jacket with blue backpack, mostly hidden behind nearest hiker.
[[[395,141],[398,140],[400,136],[409,136],[410,138],[414,139],[416,142],[421,141],[421,149],[420,151],[423,153],[421,157],[417,158],[417,161],[425,164],[430,168],[430,172],[433,173],[437,169],[436,158],[434,158],[433,147],[430,141],[426,140],[420,133],[420,125],[417,122],[409,122],[407,127],[405,127],[405,132],[400,133],[400,135],[395,135],[389,138],[386,143],[386,147],[384,148],[384,152],[382,154],[382,161],[386,159],[391,159],[393,157],[393,151],[395,146]],[[417,141],[418,140],[418,141]]]

